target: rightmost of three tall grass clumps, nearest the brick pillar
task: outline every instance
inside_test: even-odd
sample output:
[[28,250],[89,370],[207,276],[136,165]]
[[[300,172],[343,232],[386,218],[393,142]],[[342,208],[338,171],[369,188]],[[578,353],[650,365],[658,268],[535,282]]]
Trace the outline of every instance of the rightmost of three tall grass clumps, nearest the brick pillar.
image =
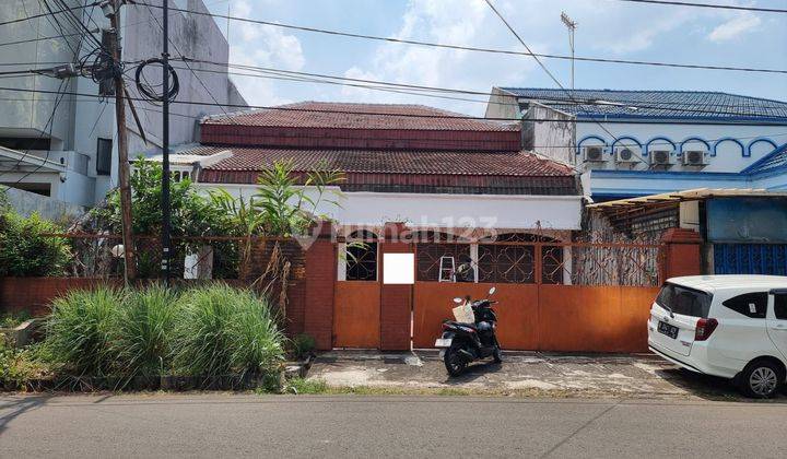
[[267,376],[283,360],[284,337],[268,303],[225,284],[184,293],[173,343],[176,373]]

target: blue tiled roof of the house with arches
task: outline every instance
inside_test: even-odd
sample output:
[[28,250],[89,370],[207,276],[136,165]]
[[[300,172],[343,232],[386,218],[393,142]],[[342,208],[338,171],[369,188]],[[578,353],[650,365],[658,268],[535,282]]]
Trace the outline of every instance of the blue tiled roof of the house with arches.
[[578,118],[659,118],[787,125],[787,102],[705,91],[501,87]]

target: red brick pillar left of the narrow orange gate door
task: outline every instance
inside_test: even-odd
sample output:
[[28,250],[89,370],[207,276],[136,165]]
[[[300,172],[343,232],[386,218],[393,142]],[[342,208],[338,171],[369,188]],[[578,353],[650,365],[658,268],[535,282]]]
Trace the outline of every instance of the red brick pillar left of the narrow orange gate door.
[[329,239],[318,239],[306,250],[304,330],[319,350],[333,348],[336,257],[336,246]]

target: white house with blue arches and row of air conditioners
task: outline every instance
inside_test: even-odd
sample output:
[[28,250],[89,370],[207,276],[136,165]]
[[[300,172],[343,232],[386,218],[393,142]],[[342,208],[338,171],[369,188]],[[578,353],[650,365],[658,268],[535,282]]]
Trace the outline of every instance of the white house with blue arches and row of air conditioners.
[[595,201],[707,188],[787,189],[787,103],[720,92],[494,87],[489,118],[583,172]]

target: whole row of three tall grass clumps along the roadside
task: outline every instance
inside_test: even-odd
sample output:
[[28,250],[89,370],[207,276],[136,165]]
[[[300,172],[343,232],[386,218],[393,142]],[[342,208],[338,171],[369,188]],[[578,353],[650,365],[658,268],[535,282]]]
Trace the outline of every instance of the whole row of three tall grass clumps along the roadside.
[[48,358],[72,376],[169,373],[215,377],[278,375],[283,333],[268,303],[248,290],[212,284],[72,291],[55,301]]

